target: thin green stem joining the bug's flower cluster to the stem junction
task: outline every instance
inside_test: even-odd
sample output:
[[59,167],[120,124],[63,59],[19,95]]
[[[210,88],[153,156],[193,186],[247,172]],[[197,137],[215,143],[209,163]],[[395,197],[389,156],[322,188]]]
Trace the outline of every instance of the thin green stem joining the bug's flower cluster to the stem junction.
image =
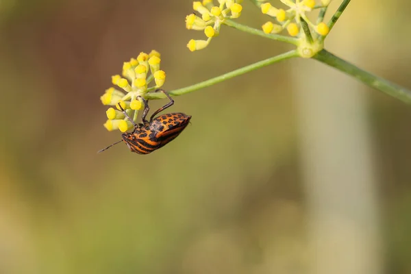
[[[212,86],[214,84],[217,84],[219,82],[223,82],[225,80],[231,79],[233,77],[248,73],[250,71],[255,71],[256,69],[260,69],[264,66],[268,66],[270,64],[274,64],[276,62],[286,60],[289,58],[297,57],[299,56],[296,50],[288,51],[286,53],[282,53],[280,55],[268,58],[266,60],[262,60],[260,62],[256,62],[254,64],[250,64],[248,66],[244,66],[241,69],[236,69],[235,71],[231,71],[229,73],[225,73],[223,75],[214,77],[212,79],[208,79],[206,81],[200,82],[198,84],[194,84],[192,86],[187,86],[185,88],[179,88],[177,90],[171,90],[169,91],[169,95],[171,96],[179,96],[179,95],[184,95],[186,93],[193,92],[195,90],[199,90],[200,88],[206,88],[208,86]],[[166,96],[161,93],[161,92],[149,92],[145,96],[145,99],[163,99],[166,98]]]

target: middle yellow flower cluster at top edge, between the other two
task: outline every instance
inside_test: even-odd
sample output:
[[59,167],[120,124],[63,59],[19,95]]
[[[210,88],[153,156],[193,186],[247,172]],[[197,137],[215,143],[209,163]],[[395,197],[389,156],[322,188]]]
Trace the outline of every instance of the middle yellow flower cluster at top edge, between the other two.
[[194,1],[192,8],[201,17],[195,13],[186,16],[186,28],[203,31],[207,40],[191,39],[187,44],[188,49],[198,51],[207,47],[212,38],[219,35],[221,25],[227,18],[238,18],[241,15],[241,2],[242,0],[219,0],[219,5],[214,5],[212,0]]

